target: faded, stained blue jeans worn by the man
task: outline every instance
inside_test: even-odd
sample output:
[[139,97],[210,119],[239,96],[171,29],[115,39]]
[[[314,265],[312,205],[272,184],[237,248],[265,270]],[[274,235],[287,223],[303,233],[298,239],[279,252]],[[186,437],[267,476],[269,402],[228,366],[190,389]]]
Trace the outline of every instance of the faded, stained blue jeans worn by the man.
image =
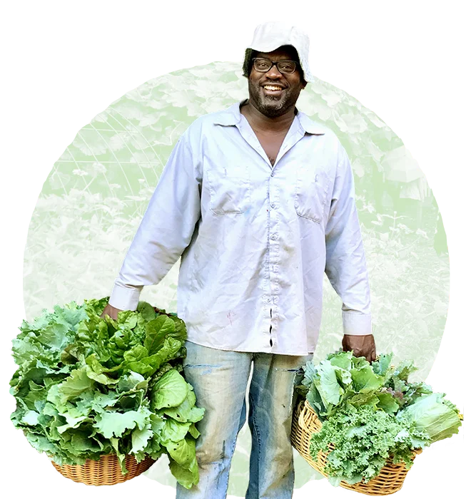
[[294,485],[290,443],[295,374],[310,356],[250,354],[223,351],[187,341],[185,375],[206,408],[196,423],[200,480],[187,490],[177,483],[177,499],[226,499],[231,459],[245,423],[245,392],[249,389],[248,425],[252,433],[250,478],[245,499],[291,499]]

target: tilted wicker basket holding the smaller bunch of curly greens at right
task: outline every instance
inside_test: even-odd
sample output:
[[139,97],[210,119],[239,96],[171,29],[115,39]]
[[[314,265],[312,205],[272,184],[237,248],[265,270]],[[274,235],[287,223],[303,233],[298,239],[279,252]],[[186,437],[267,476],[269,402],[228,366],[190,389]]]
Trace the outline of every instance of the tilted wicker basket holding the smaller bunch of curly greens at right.
[[[301,401],[293,416],[291,443],[315,470],[318,470],[325,478],[328,478],[328,475],[324,472],[328,454],[319,452],[317,461],[314,461],[309,453],[310,438],[313,433],[320,431],[321,426],[322,423],[308,401]],[[333,445],[330,446],[330,449],[333,449]],[[417,450],[413,451],[413,453],[412,461],[416,461],[417,455],[421,451]],[[408,473],[409,470],[405,468],[405,465],[393,464],[392,461],[388,460],[386,465],[381,469],[380,474],[373,478],[373,480],[366,483],[362,480],[359,483],[355,483],[355,485],[341,481],[340,487],[365,495],[392,495],[397,490],[400,490]]]

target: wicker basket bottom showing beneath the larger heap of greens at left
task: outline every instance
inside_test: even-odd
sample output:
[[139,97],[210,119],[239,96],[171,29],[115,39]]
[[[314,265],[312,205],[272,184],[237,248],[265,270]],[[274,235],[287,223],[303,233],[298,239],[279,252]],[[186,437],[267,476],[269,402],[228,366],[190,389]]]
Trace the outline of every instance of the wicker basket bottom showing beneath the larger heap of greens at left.
[[126,470],[128,473],[123,475],[121,473],[121,466],[119,465],[118,457],[116,454],[106,454],[101,456],[99,461],[87,459],[85,464],[82,465],[69,465],[64,464],[59,466],[54,461],[51,461],[54,468],[56,468],[61,475],[74,482],[83,483],[84,485],[116,485],[117,483],[132,480],[136,476],[141,475],[144,471],[151,468],[155,463],[154,459],[146,458],[138,463],[134,456],[126,456]]

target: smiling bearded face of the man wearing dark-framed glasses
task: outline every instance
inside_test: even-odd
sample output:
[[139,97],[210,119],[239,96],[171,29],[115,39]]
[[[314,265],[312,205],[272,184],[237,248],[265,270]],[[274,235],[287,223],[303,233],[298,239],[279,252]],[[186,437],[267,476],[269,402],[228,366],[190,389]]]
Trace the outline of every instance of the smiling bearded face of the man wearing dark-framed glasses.
[[[253,51],[252,57],[263,57],[276,62],[287,59],[298,62],[298,54],[291,46],[283,46],[268,53]],[[250,101],[268,118],[277,118],[285,114],[298,101],[300,91],[305,86],[306,82],[301,76],[299,63],[296,64],[296,70],[292,74],[280,73],[273,65],[268,73],[260,73],[252,66],[248,76]]]

